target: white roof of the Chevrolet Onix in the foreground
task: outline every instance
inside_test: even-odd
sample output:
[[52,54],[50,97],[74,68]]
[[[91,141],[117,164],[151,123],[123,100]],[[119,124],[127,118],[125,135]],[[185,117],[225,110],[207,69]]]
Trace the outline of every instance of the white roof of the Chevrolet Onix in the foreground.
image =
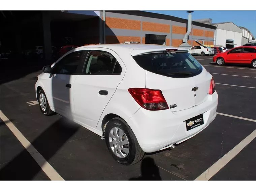
[[87,49],[87,48],[108,48],[117,53],[122,51],[127,51],[127,52],[130,52],[132,56],[147,53],[147,52],[166,50],[166,49],[178,49],[178,50],[187,51],[187,49],[184,49],[184,48],[156,45],[156,44],[99,44],[99,45],[82,46],[76,49]]

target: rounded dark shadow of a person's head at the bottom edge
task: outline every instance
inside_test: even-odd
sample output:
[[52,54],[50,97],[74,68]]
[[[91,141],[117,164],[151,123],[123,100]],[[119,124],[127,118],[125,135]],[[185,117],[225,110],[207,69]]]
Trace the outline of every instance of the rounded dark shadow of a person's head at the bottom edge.
[[159,168],[151,157],[144,158],[141,161],[141,176],[131,178],[127,183],[162,183],[162,178],[159,174]]

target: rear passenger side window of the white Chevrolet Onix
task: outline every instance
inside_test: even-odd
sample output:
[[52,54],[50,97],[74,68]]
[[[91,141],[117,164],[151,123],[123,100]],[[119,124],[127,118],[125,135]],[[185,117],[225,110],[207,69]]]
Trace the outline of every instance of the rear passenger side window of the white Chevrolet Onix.
[[121,74],[122,67],[116,58],[109,52],[91,50],[88,54],[84,74],[115,75]]

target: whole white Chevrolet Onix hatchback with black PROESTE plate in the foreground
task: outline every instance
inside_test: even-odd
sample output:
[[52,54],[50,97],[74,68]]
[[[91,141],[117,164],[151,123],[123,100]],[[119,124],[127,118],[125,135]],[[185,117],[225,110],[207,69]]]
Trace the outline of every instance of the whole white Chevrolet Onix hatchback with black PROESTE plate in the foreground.
[[192,138],[218,105],[212,75],[188,50],[149,44],[78,47],[43,68],[35,91],[44,115],[105,138],[124,165]]

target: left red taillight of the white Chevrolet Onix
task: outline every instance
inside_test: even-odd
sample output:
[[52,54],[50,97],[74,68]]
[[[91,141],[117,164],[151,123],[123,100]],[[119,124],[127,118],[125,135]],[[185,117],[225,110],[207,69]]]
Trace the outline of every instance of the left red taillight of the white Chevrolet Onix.
[[151,111],[169,109],[161,90],[130,88],[128,91],[144,109]]

